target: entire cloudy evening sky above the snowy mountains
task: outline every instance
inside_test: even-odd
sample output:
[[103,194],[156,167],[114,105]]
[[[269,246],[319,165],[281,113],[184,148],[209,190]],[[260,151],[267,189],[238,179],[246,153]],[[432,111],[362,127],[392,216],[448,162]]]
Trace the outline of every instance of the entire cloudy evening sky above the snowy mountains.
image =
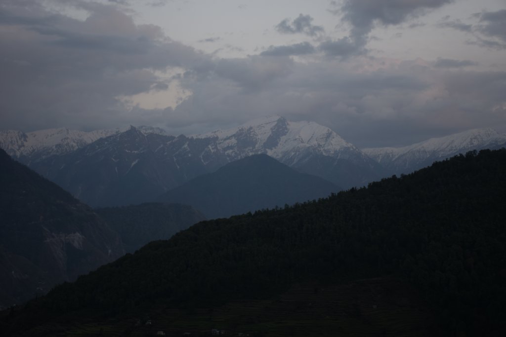
[[504,0],[2,0],[0,129],[506,132]]

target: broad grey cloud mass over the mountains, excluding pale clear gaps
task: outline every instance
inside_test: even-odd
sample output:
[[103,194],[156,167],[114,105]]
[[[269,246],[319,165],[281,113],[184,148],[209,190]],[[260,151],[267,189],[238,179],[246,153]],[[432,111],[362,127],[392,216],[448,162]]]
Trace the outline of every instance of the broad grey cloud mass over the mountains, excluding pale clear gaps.
[[[170,39],[159,27],[136,24],[122,10],[126,5],[74,2],[87,6],[86,21],[50,12],[35,0],[0,5],[2,128],[149,124],[180,134],[281,114],[327,125],[359,147],[407,145],[482,126],[506,131],[505,72],[470,71],[475,68],[466,68],[469,60],[354,58],[367,52],[369,26],[384,23],[378,14],[365,13],[364,26],[341,39],[217,59]],[[399,17],[408,20],[419,15],[416,9],[433,7],[410,8],[414,14]],[[476,33],[502,43],[492,25],[496,18],[481,18],[476,25],[483,33]],[[314,50],[325,54],[320,62],[288,56]],[[156,70],[167,67],[182,68],[173,78],[193,93],[175,109],[129,109],[117,99],[165,90],[171,79]]]

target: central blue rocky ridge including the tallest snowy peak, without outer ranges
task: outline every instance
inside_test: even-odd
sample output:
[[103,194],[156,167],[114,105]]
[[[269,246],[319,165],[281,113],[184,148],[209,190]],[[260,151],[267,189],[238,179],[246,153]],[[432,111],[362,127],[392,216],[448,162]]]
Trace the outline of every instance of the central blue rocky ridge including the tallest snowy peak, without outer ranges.
[[268,154],[344,188],[377,179],[381,171],[330,129],[280,116],[192,137],[131,127],[75,151],[30,161],[30,167],[83,202],[106,207],[153,201],[166,190],[253,154]]

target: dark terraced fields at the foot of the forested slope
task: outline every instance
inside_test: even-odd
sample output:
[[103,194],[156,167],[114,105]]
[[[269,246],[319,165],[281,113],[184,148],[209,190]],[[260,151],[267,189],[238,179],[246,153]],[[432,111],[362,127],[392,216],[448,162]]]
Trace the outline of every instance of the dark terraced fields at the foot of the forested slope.
[[[26,311],[25,311],[26,312]],[[20,314],[21,313],[21,314]],[[23,311],[4,312],[18,321]],[[1,315],[1,313],[0,313]],[[2,318],[4,318],[2,320]],[[0,316],[2,321],[12,321]],[[210,336],[224,329],[229,336],[435,336],[438,327],[427,304],[412,287],[395,278],[361,279],[329,285],[296,283],[279,296],[235,300],[212,308],[150,306],[131,315],[112,317],[90,313],[59,319],[35,317],[40,323],[26,336]],[[146,324],[151,320],[151,325]]]

